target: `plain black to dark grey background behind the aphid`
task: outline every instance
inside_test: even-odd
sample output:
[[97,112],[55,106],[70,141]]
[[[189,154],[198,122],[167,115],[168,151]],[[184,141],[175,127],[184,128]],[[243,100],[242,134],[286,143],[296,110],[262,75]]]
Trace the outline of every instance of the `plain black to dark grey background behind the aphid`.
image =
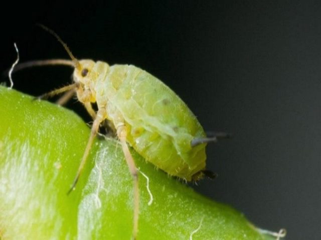
[[[147,70],[206,130],[234,134],[208,146],[208,169],[219,177],[197,191],[262,228],[287,228],[287,239],[321,239],[321,2],[169,2],[2,7],[1,69],[16,59],[14,42],[21,62],[68,57],[41,22],[78,58]],[[28,69],[14,75],[14,88],[40,95],[71,72]],[[75,100],[68,106],[85,113]]]

